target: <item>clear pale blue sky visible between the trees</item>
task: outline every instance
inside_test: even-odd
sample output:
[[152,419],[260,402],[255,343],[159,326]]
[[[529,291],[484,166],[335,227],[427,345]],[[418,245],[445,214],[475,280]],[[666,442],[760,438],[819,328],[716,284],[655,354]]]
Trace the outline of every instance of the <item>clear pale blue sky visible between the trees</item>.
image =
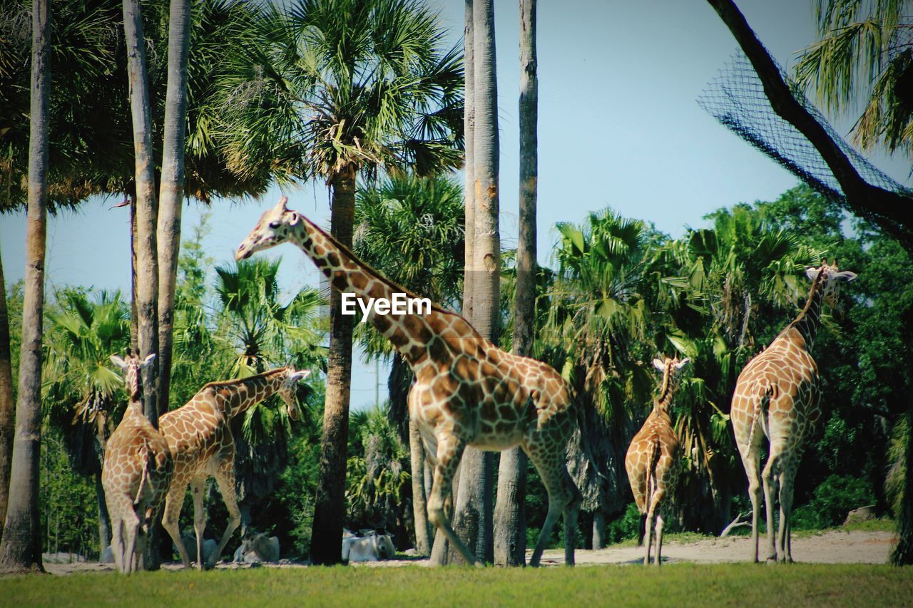
[[[456,43],[463,34],[462,0],[429,0],[439,7]],[[500,204],[502,243],[515,246],[518,201],[519,88],[517,0],[496,2]],[[761,41],[783,66],[814,38],[811,0],[738,2]],[[622,215],[680,236],[686,225],[721,206],[772,200],[797,183],[790,173],[731,134],[696,103],[700,92],[736,48],[729,30],[703,0],[566,0],[539,3],[539,251],[548,263],[552,226],[580,222],[607,205]],[[842,122],[845,128],[849,122]],[[908,183],[909,162],[872,159]],[[289,191],[289,206],[328,220],[322,183]],[[275,203],[262,200],[213,205],[207,253],[228,263],[234,248]],[[117,203],[92,200],[77,213],[48,224],[47,279],[52,285],[130,286],[127,213]],[[198,222],[199,206],[184,207],[184,234]],[[7,285],[22,278],[25,217],[0,217]],[[310,260],[291,246],[269,252],[284,258],[287,293],[318,283]],[[352,406],[373,403],[374,366],[352,372]],[[382,366],[385,392],[386,370]]]

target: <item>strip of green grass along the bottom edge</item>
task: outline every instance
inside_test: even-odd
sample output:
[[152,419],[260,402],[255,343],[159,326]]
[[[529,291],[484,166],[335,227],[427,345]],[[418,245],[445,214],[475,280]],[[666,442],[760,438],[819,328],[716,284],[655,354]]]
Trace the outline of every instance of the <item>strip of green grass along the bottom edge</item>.
[[0,605],[910,605],[913,570],[887,565],[667,564],[541,570],[261,568],[0,579]]

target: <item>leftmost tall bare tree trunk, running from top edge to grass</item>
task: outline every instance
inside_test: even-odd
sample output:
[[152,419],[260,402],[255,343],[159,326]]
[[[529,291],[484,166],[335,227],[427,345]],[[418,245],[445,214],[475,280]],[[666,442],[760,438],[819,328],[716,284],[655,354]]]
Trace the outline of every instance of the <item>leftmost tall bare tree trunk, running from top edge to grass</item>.
[[28,138],[26,280],[16,437],[0,571],[44,571],[38,503],[41,464],[41,332],[47,234],[47,131],[51,86],[49,0],[32,2],[32,91]]

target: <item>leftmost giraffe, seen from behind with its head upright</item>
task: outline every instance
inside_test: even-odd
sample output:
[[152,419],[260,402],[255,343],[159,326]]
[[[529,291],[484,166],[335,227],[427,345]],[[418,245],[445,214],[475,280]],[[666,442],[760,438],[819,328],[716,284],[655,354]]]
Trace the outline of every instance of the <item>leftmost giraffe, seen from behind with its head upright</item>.
[[173,474],[168,444],[142,413],[141,374],[154,357],[142,362],[130,353],[126,359],[110,357],[123,370],[130,402],[105,447],[101,487],[110,514],[114,563],[127,574],[141,568],[146,534],[162,510]]

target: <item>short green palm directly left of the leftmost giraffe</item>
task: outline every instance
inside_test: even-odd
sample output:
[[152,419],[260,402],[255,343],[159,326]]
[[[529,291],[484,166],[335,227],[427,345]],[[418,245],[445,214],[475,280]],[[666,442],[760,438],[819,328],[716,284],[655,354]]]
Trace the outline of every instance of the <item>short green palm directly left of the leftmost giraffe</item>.
[[89,299],[77,290],[57,295],[47,313],[44,401],[50,425],[58,429],[70,463],[95,477],[99,540],[110,544],[110,519],[101,487],[101,465],[108,437],[123,414],[121,377],[110,370],[112,352],[130,345],[130,307],[120,292],[101,291]]

